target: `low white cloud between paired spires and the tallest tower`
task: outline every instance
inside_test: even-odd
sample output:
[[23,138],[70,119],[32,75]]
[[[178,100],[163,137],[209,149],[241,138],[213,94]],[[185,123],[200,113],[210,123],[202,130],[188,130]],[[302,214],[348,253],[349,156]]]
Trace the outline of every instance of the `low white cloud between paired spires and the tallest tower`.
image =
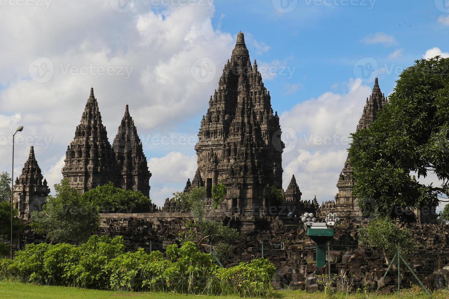
[[188,178],[193,179],[197,167],[197,156],[185,156],[180,152],[171,152],[161,158],[148,160],[150,179],[150,198],[158,206],[172,193],[182,191]]

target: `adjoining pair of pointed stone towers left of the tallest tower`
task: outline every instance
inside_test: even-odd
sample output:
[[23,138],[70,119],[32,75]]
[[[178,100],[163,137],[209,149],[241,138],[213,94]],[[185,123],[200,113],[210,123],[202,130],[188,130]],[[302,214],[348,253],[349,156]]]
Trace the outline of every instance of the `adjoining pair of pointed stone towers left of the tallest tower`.
[[151,173],[128,105],[111,146],[93,88],[64,162],[63,177],[82,193],[113,182],[122,189],[150,196]]

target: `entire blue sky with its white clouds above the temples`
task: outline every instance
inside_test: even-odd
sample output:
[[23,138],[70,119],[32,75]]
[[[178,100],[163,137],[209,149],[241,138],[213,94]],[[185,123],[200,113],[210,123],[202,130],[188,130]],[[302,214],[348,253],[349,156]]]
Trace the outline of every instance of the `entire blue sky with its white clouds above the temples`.
[[[415,60],[449,56],[448,0],[149,1],[2,6],[0,171],[10,171],[8,136],[23,125],[15,174],[34,145],[44,177],[58,182],[93,85],[110,142],[130,105],[153,173],[150,196],[163,204],[193,178],[201,117],[242,30],[288,139],[284,185],[295,174],[303,198],[331,200],[374,77],[388,95]],[[204,59],[216,72],[198,82],[194,66]],[[44,80],[36,77],[49,65]],[[193,142],[180,145],[180,137]]]

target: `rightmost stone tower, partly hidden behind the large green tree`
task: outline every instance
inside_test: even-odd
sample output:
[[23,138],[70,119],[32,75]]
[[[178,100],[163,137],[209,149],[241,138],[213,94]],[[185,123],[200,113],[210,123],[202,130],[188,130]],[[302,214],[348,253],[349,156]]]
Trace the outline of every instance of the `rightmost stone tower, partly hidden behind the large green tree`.
[[[369,98],[366,98],[365,107],[359,120],[356,130],[367,129],[376,119],[376,113],[387,105],[388,101],[385,95],[380,91],[379,81],[374,81],[373,92]],[[326,207],[333,208],[340,218],[362,218],[362,212],[357,204],[357,198],[352,197],[352,187],[354,186],[354,178],[352,176],[352,167],[350,157],[346,158],[343,170],[340,173],[337,182],[338,193],[335,195],[335,204],[326,202]]]

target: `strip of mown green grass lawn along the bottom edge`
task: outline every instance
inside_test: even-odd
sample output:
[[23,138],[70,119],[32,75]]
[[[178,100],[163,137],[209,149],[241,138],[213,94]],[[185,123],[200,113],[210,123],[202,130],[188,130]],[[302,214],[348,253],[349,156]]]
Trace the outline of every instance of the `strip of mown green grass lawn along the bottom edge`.
[[[433,294],[435,299],[447,299],[449,298],[448,290],[439,290]],[[64,286],[37,286],[34,284],[25,284],[19,282],[0,282],[0,298],[14,298],[14,299],[40,299],[40,298],[61,298],[61,299],[78,299],[78,298],[154,298],[154,299],[177,299],[177,298],[229,298],[237,299],[238,296],[222,297],[222,296],[204,296],[204,295],[180,295],[180,294],[168,294],[168,293],[132,293],[132,292],[116,292],[106,290],[88,290],[79,289],[74,287]],[[305,291],[276,291],[275,298],[304,298],[304,299],[324,299],[324,293],[306,293]],[[344,299],[342,294],[336,294],[335,299]],[[350,299],[364,299],[363,294],[351,294]],[[371,294],[368,298],[373,299],[395,299],[398,298],[395,295],[375,295]],[[414,298],[429,298],[423,291],[415,288],[413,290],[405,290],[401,292],[401,299],[414,299]]]

